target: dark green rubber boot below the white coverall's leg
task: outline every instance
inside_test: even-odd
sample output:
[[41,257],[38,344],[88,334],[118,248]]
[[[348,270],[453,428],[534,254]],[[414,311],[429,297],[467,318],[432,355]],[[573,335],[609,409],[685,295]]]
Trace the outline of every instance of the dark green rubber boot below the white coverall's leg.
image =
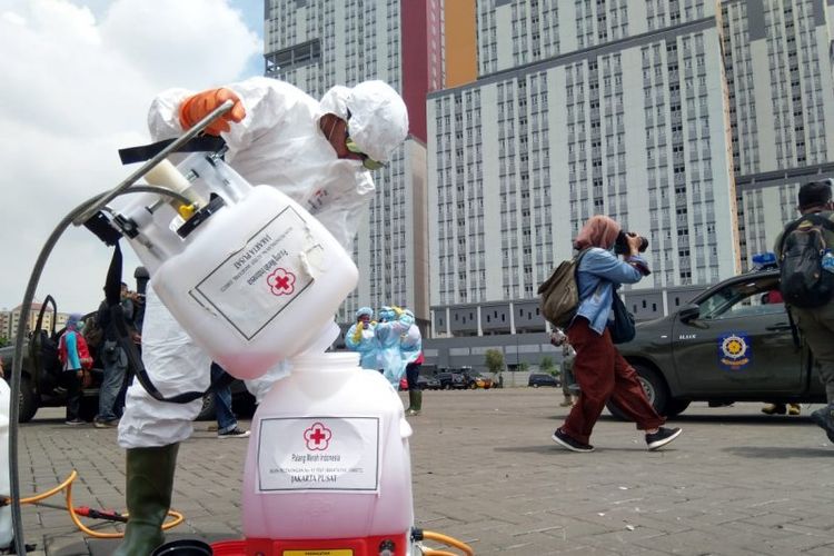
[[148,556],[165,542],[162,523],[171,507],[178,450],[179,443],[128,449],[128,526],[116,556]]

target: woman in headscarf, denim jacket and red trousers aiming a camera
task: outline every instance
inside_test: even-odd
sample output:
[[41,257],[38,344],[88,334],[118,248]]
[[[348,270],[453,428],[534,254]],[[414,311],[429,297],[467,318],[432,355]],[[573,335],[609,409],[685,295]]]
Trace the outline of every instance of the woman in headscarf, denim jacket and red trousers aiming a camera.
[[[618,241],[619,239],[619,241]],[[623,259],[615,254],[623,254]],[[674,440],[679,428],[665,428],[646,398],[637,373],[619,355],[612,342],[608,318],[614,290],[622,284],[636,284],[649,274],[639,256],[647,241],[636,234],[624,234],[607,216],[594,216],[574,239],[574,248],[587,252],[577,268],[579,308],[567,328],[567,337],[576,350],[574,377],[579,385],[579,399],[553,439],[573,451],[593,451],[590,433],[610,399],[646,431],[646,445],[654,450]]]

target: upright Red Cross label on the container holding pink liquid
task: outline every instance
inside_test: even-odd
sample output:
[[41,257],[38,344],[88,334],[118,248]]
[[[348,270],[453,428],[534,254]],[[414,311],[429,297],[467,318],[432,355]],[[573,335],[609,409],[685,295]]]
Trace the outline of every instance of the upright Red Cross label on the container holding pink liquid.
[[379,490],[378,417],[264,418],[258,493]]

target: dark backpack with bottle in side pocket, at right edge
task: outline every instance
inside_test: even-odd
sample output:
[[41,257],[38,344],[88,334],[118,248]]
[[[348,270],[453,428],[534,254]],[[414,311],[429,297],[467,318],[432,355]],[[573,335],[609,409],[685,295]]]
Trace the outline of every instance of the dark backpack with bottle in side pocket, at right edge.
[[834,222],[816,214],[804,215],[785,228],[780,290],[787,305],[811,309],[827,304],[834,295],[834,272],[823,268],[823,259],[833,258],[826,230],[834,232]]

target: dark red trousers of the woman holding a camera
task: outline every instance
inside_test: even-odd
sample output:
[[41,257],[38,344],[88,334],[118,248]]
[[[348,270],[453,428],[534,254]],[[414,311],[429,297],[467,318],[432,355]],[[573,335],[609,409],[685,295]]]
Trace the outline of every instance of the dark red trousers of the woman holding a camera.
[[588,320],[578,317],[567,329],[567,338],[576,349],[574,377],[579,385],[579,400],[562,425],[569,437],[588,444],[590,431],[605,403],[610,399],[639,429],[657,428],[666,419],[657,415],[637,380],[634,367],[619,355],[606,328],[599,336]]

